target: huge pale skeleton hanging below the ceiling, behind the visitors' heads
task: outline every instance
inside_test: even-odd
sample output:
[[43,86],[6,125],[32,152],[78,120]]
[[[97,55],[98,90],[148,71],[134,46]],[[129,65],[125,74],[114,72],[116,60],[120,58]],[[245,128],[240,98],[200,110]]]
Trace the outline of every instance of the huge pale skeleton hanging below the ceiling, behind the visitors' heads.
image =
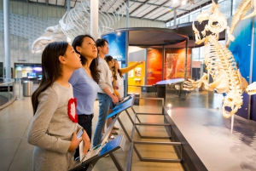
[[[99,8],[108,9],[107,12],[99,10],[98,31],[101,34],[120,20],[127,6],[122,0],[99,0]],[[74,37],[86,33],[90,33],[90,0],[81,0],[81,3],[64,14],[57,26],[46,28],[44,34],[32,43],[32,53],[41,53],[49,43],[67,41],[67,37],[73,40]]]

